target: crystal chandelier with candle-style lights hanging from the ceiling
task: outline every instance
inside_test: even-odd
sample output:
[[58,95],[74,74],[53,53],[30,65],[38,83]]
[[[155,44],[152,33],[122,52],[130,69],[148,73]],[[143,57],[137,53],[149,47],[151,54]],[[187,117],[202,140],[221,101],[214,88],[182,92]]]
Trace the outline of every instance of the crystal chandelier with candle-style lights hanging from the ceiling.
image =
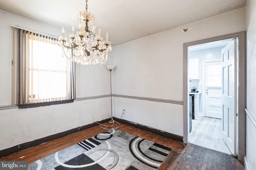
[[[98,30],[98,35],[95,33],[95,18],[93,14],[86,10],[78,13],[78,29],[74,33],[75,27],[72,26],[72,34],[69,38],[64,36],[65,30],[62,27],[62,37],[59,37],[60,46],[62,47],[62,56],[70,61],[82,65],[105,64],[108,59],[108,51],[111,51],[111,42],[108,41],[108,31],[106,33],[106,41],[100,37],[101,29]],[[69,50],[73,49],[72,55],[69,55]]]

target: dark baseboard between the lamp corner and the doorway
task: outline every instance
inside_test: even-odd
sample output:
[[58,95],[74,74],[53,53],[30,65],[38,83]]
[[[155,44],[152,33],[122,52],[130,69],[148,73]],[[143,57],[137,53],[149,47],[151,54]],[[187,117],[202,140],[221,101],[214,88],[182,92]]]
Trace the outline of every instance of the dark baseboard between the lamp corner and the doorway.
[[134,122],[131,122],[131,121],[127,121],[127,120],[124,120],[124,119],[119,119],[117,117],[114,117],[114,120],[115,121],[118,121],[118,122],[121,122],[121,123],[125,123],[126,125],[130,125],[130,126],[133,126],[133,127],[136,127],[138,129],[142,129],[142,130],[145,130],[145,131],[149,131],[151,133],[154,133],[154,134],[157,134],[157,135],[160,135],[160,136],[163,136],[163,137],[167,137],[169,139],[173,139],[175,141],[179,141],[179,142],[182,142],[183,143],[183,137],[182,136],[179,136],[179,135],[174,135],[172,133],[168,133],[168,132],[165,132],[165,131],[161,131],[161,130],[158,130],[158,129],[154,129],[152,127],[148,127],[148,126],[144,126],[144,125],[140,125],[138,123],[134,123]]

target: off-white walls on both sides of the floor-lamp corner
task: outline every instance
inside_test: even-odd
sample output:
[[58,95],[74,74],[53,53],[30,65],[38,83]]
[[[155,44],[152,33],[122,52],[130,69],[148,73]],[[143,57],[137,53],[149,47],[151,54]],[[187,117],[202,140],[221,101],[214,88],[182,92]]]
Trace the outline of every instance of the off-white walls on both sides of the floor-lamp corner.
[[[11,104],[11,28],[19,25],[38,32],[60,35],[61,28],[0,10],[0,106]],[[114,70],[114,93],[183,101],[183,43],[245,30],[245,8],[220,14],[116,45],[109,53]],[[170,20],[171,21],[171,20]],[[180,29],[193,27],[187,33]],[[10,40],[10,41],[8,41]],[[107,63],[107,64],[108,64]],[[105,66],[76,67],[76,97],[109,94]],[[29,109],[0,110],[0,150],[108,118],[110,98]],[[115,116],[183,136],[183,106],[171,103],[114,99]]]

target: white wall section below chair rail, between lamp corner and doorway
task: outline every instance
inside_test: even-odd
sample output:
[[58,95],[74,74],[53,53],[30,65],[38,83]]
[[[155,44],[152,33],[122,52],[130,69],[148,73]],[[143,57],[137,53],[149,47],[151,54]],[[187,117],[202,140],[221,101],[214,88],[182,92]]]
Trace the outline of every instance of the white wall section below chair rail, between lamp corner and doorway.
[[[183,128],[179,128],[180,121],[177,121],[180,119],[181,114],[179,112],[183,109],[182,105],[130,98],[115,98],[115,109],[115,116],[118,118],[121,117],[122,110],[125,109],[122,119],[177,135],[183,133]],[[163,117],[163,114],[165,117]],[[161,116],[160,119],[159,116]]]

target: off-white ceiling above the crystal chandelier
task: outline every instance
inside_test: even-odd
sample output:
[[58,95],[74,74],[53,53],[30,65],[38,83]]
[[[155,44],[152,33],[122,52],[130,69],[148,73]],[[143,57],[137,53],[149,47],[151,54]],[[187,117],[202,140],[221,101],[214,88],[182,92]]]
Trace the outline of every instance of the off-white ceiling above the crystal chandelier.
[[[0,9],[71,31],[85,4],[85,0],[0,0]],[[96,29],[108,31],[109,41],[117,45],[245,5],[246,0],[88,0],[88,11],[95,16]]]

